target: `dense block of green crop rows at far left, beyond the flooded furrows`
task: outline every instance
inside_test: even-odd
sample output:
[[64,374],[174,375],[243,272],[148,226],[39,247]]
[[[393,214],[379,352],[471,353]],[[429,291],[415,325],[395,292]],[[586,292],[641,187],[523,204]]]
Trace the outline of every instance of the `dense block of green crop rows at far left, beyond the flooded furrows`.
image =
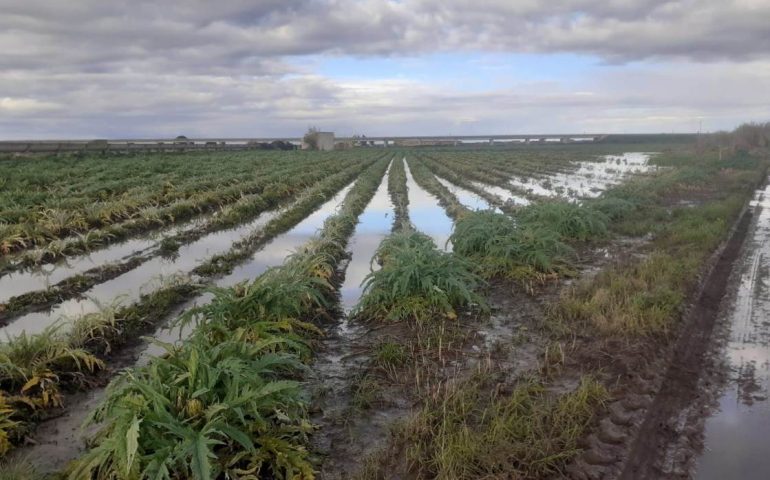
[[[104,185],[101,176],[86,177],[94,184],[89,185],[92,188],[82,196],[78,195],[76,187],[68,185],[67,182],[72,182],[71,175],[65,175],[61,185],[55,182],[54,187],[43,187],[40,182],[43,178],[48,179],[51,172],[39,170],[46,165],[52,171],[76,170],[82,162],[63,158],[58,163],[56,160],[38,160],[17,165],[15,160],[4,160],[11,173],[6,182],[8,188],[3,192],[9,198],[0,211],[0,254],[48,244],[57,249],[74,249],[78,245],[76,240],[87,241],[90,245],[123,238],[158,222],[169,223],[214,208],[237,199],[242,193],[258,192],[265,187],[265,179],[269,178],[268,184],[280,187],[282,178],[290,178],[291,172],[307,172],[319,160],[349,159],[356,155],[361,153],[219,152],[177,156],[177,161],[168,155],[159,155],[153,157],[158,161],[157,165],[150,164],[145,157],[141,157],[143,161],[136,157],[121,157],[109,162],[120,180]],[[186,159],[186,162],[179,159]],[[101,158],[90,161],[106,163]],[[228,168],[222,168],[223,165]],[[205,175],[201,169],[207,171]],[[118,174],[120,171],[123,173]],[[278,171],[283,174],[270,177]],[[134,176],[124,178],[129,172]],[[180,193],[179,186],[172,180],[179,176],[189,182],[182,189],[184,193]],[[136,191],[121,188],[123,183],[132,184],[137,179],[144,179],[145,184]],[[61,187],[60,194],[50,197],[51,192],[57,191],[57,186]],[[49,197],[57,203],[46,204]],[[75,234],[87,237],[64,241]]]

